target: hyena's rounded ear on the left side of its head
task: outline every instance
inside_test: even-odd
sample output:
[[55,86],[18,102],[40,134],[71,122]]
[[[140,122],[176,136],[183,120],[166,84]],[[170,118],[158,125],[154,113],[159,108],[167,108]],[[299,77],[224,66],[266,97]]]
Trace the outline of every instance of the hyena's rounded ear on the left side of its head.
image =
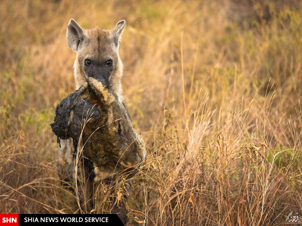
[[71,19],[67,26],[67,43],[70,49],[78,51],[80,43],[84,40],[85,35],[83,29]]

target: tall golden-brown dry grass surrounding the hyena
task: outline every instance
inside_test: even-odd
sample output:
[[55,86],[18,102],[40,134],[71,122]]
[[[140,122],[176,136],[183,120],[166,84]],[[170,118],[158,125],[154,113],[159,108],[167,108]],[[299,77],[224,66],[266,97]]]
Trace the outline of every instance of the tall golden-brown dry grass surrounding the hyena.
[[65,40],[74,18],[84,28],[127,21],[122,83],[147,147],[129,224],[301,215],[301,10],[300,1],[1,1],[0,212],[78,208],[58,179],[49,126],[75,87]]

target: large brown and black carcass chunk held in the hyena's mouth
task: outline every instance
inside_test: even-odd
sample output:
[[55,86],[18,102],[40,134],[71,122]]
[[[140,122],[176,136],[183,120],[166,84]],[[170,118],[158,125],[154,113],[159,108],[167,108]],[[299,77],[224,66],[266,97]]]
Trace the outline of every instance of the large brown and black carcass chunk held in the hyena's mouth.
[[125,104],[94,78],[62,100],[51,128],[58,139],[72,138],[75,152],[81,142],[84,157],[93,163],[90,173],[95,181],[116,172],[135,171],[145,157],[144,143]]

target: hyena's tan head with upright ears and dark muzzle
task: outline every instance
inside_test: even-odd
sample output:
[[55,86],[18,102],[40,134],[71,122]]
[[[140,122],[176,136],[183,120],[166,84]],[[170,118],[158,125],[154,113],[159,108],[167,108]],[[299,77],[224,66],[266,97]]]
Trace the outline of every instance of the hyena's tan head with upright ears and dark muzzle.
[[122,98],[122,62],[118,54],[119,41],[126,22],[120,21],[112,30],[98,27],[83,30],[73,19],[67,26],[68,46],[77,52],[74,62],[74,76],[77,88],[92,77],[111,85]]

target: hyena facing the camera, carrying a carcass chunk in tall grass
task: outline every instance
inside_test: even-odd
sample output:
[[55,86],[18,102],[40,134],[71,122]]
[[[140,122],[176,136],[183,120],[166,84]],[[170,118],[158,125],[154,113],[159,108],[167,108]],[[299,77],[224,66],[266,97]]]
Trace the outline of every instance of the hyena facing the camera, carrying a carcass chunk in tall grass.
[[[77,89],[85,85],[88,78],[94,78],[105,87],[110,86],[117,100],[124,104],[121,88],[123,65],[119,57],[118,49],[125,24],[126,22],[124,20],[118,22],[112,31],[99,28],[83,30],[73,19],[69,21],[67,26],[67,43],[72,50],[77,52],[77,57],[73,65]],[[110,150],[108,151],[110,152]],[[64,180],[66,180],[66,178],[74,178],[73,153],[72,139],[60,140],[58,165],[60,176]],[[87,173],[89,174],[91,172]],[[112,179],[112,173],[110,171],[99,170],[97,175],[98,180],[107,180],[108,178]],[[89,177],[86,181],[87,186],[84,194],[86,200],[92,197],[94,179],[95,178]],[[131,183],[129,182],[128,187],[130,186]],[[93,208],[91,202],[88,202],[85,208],[87,212],[90,212]],[[126,219],[126,211],[124,209],[114,206],[113,212],[114,211],[120,211],[121,214],[119,216],[124,220]]]

